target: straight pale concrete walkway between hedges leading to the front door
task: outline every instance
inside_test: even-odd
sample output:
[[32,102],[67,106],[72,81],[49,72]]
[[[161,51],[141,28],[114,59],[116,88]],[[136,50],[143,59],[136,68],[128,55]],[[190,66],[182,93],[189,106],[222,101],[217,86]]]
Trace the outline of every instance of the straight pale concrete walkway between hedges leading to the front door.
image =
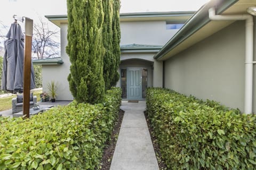
[[122,101],[125,111],[110,170],[158,170],[155,151],[143,112],[146,102]]

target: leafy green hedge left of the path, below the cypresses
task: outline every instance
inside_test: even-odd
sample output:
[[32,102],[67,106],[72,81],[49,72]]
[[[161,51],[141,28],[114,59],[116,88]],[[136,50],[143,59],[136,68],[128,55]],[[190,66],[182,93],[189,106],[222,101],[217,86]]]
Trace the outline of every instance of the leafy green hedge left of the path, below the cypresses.
[[94,169],[113,130],[121,90],[112,88],[105,103],[71,103],[0,125],[0,169]]

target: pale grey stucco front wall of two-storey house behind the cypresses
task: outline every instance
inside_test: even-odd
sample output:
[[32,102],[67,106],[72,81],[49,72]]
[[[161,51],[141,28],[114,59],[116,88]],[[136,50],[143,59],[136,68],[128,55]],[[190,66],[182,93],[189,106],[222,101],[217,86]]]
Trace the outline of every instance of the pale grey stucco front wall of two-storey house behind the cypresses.
[[[147,44],[147,45],[164,45],[177,30],[166,30],[165,21],[132,21],[121,22],[121,45],[122,44]],[[66,53],[67,46],[67,23],[60,25],[61,30],[61,58],[62,65],[44,65],[43,66],[43,90],[46,90],[47,83],[51,80],[58,82],[58,100],[72,100],[73,96],[69,91],[67,77],[69,74],[70,61]],[[148,62],[153,65],[154,53],[148,54],[122,54],[121,60],[141,59],[143,62],[133,60],[133,63],[126,65],[128,67],[146,67],[149,70],[148,86],[153,86],[153,69],[148,66]],[[149,63],[150,63],[149,62]],[[127,64],[127,63],[126,63]],[[138,65],[139,64],[139,65]],[[123,66],[123,65],[121,65]],[[162,77],[159,75],[159,77]],[[117,86],[119,86],[119,81]]]

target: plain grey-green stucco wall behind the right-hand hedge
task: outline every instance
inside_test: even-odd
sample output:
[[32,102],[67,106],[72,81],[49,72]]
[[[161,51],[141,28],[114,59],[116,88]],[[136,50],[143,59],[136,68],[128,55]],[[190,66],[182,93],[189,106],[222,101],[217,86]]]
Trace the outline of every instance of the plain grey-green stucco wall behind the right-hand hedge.
[[[243,112],[244,62],[245,24],[238,21],[165,61],[165,87]],[[254,103],[255,84],[254,65]]]

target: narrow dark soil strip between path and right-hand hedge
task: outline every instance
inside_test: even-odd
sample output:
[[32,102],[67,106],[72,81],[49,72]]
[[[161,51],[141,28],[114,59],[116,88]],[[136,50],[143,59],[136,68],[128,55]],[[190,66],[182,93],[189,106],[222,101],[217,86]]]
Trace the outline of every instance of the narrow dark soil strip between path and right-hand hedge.
[[149,121],[149,119],[147,117],[147,113],[144,112],[144,115],[146,117],[146,121],[147,121],[147,124],[148,124],[148,130],[149,130],[149,133],[150,133],[151,141],[152,141],[153,147],[155,149],[156,159],[157,159],[157,162],[158,162],[159,170],[166,170],[167,166],[165,165],[164,160],[163,160],[163,158],[161,156],[160,147],[159,147],[159,145],[157,143],[156,137],[153,134],[153,129],[152,129],[151,125],[150,125],[150,121]]

